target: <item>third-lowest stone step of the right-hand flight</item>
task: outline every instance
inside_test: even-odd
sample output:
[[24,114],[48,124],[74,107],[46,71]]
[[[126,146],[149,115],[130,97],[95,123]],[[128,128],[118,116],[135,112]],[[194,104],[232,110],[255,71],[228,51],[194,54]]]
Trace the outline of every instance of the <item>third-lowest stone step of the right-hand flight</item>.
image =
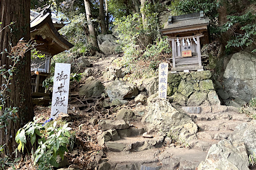
[[235,127],[243,121],[234,120],[213,120],[213,121],[196,121],[199,131],[234,131]]

